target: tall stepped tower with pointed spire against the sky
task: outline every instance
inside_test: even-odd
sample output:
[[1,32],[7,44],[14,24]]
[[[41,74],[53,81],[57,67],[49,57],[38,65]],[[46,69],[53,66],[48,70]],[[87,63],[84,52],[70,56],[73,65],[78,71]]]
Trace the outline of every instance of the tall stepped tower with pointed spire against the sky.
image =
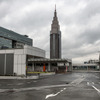
[[50,31],[50,59],[61,58],[61,31],[57,18],[56,7]]

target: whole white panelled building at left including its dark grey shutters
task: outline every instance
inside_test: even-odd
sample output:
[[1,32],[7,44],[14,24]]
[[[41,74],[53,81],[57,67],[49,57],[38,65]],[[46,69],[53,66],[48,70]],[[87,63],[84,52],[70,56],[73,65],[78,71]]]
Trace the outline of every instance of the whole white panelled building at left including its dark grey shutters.
[[26,75],[28,57],[44,58],[45,51],[28,45],[21,49],[1,49],[0,75]]

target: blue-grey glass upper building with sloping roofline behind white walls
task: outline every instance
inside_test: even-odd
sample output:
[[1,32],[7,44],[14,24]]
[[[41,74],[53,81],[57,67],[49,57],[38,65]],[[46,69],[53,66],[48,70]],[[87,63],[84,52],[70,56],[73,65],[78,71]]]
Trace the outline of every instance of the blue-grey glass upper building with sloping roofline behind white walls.
[[22,48],[25,44],[32,46],[32,39],[0,27],[0,49]]

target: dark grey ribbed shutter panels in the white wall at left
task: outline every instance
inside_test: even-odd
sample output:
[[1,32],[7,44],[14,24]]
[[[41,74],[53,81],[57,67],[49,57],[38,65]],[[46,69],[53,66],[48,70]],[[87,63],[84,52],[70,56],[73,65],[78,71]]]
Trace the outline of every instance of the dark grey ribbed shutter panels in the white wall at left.
[[0,54],[0,75],[13,75],[13,54]]

